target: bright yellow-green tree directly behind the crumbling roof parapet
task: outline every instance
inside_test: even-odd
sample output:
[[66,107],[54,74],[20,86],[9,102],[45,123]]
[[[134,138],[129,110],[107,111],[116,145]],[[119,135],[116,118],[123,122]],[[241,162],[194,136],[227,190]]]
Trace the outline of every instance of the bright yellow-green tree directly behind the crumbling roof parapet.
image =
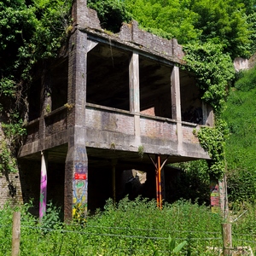
[[194,41],[201,33],[194,26],[198,15],[185,1],[125,0],[125,7],[144,29],[168,39],[177,38],[179,44]]

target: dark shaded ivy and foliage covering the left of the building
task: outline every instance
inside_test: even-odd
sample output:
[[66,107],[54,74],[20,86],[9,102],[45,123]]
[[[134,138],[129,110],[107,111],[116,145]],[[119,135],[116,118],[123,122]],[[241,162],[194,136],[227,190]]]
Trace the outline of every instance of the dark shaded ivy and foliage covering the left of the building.
[[32,68],[58,55],[71,23],[72,0],[0,2],[0,171],[15,171],[15,147],[26,133]]

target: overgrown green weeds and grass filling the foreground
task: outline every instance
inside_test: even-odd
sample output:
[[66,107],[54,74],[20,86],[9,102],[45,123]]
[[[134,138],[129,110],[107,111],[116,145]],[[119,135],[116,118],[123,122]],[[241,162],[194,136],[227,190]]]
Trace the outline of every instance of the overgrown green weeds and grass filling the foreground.
[[[154,201],[125,198],[113,207],[108,201],[104,212],[63,224],[59,210],[48,207],[46,218],[28,213],[29,206],[0,211],[0,255],[11,255],[12,216],[21,212],[20,255],[173,255],[168,237],[176,246],[187,241],[177,255],[217,255],[208,247],[222,247],[221,223],[218,214],[206,206],[189,201],[166,204],[162,210]],[[251,246],[256,250],[255,207],[241,209],[232,225],[234,246]]]

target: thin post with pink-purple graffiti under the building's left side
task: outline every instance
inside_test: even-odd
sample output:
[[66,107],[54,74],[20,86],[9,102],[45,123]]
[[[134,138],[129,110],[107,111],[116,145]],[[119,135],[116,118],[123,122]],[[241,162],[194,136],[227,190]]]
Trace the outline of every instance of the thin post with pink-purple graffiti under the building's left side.
[[40,181],[40,199],[39,199],[39,219],[45,215],[47,202],[47,166],[48,154],[41,151],[41,181]]

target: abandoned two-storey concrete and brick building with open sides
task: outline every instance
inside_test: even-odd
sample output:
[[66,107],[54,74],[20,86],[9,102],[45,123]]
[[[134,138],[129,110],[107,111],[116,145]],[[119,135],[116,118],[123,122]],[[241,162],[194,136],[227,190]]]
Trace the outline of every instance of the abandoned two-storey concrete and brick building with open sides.
[[31,87],[18,155],[23,201],[34,198],[44,213],[47,198],[70,219],[78,204],[94,211],[109,197],[119,201],[142,172],[141,194],[163,199],[167,164],[210,159],[193,131],[212,125],[212,109],[183,66],[176,39],[136,21],[106,32],[96,11],[76,1],[66,48]]

